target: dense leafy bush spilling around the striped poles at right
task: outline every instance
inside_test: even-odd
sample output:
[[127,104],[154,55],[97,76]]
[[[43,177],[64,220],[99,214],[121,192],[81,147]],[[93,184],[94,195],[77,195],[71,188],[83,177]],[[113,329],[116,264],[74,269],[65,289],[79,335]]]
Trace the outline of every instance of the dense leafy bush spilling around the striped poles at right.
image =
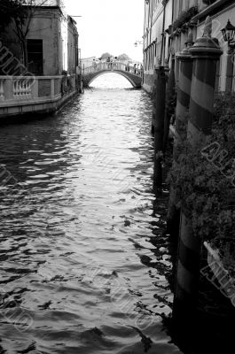
[[208,151],[192,150],[188,141],[183,142],[178,164],[169,173],[180,204],[192,220],[192,231],[202,240],[235,239],[234,104],[234,96],[216,97]]

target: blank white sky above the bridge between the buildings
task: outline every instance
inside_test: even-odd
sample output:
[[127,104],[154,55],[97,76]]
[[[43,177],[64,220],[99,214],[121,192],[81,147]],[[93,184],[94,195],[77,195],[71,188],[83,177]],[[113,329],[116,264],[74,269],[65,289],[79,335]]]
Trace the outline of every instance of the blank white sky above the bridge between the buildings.
[[100,57],[108,51],[114,56],[126,53],[143,60],[144,0],[64,0],[67,13],[77,22],[82,58]]

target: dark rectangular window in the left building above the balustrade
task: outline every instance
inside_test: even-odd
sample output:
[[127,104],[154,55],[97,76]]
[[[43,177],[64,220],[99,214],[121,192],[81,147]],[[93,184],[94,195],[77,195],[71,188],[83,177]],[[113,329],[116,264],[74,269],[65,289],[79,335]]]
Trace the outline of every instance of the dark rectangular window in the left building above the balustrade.
[[43,40],[27,40],[28,71],[35,75],[43,75]]

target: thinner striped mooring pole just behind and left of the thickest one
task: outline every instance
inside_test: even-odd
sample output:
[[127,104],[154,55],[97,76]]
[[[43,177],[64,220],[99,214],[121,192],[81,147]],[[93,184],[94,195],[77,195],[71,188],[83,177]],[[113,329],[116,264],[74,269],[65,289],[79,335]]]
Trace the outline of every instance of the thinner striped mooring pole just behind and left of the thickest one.
[[[189,112],[190,93],[192,84],[192,55],[190,48],[193,45],[192,30],[189,30],[189,35],[186,48],[179,53],[177,60],[179,62],[179,77],[177,88],[177,104],[176,104],[176,130],[174,139],[173,150],[173,165],[177,164],[179,157],[178,147],[181,142],[184,142],[187,132],[188,117],[186,114]],[[178,235],[180,210],[177,205],[176,190],[171,187],[168,206],[168,230],[170,234]]]

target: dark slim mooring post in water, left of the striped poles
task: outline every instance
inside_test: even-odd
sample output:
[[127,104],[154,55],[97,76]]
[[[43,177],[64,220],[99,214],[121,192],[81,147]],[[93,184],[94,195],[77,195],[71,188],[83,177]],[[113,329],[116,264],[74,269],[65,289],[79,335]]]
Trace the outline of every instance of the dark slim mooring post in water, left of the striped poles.
[[155,97],[153,99],[153,111],[155,119],[154,127],[154,171],[153,189],[161,187],[162,183],[162,156],[164,137],[164,118],[166,101],[166,74],[164,66],[155,69]]

